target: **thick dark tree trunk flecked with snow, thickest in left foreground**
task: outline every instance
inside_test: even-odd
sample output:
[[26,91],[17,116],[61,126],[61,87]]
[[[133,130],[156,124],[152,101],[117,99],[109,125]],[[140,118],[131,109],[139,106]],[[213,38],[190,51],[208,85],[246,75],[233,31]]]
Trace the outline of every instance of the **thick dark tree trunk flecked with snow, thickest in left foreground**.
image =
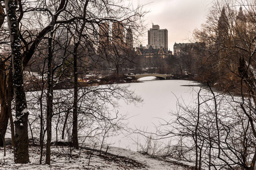
[[7,22],[11,39],[13,63],[13,88],[15,97],[15,163],[28,163],[28,111],[23,87],[23,63],[20,48],[19,27],[16,17],[16,5],[12,0],[5,0]]

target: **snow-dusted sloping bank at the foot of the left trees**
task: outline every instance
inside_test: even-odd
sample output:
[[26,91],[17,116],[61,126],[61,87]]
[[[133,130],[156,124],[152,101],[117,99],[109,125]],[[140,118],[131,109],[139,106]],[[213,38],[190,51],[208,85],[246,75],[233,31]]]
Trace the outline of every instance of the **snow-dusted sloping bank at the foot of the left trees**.
[[188,169],[123,148],[109,147],[107,153],[106,148],[103,148],[101,156],[99,150],[100,146],[93,149],[93,146],[88,145],[80,150],[72,149],[70,152],[69,147],[52,146],[51,165],[44,163],[45,156],[40,165],[39,147],[30,147],[28,164],[15,164],[13,150],[7,147],[6,156],[3,156],[3,148],[0,148],[0,169]]

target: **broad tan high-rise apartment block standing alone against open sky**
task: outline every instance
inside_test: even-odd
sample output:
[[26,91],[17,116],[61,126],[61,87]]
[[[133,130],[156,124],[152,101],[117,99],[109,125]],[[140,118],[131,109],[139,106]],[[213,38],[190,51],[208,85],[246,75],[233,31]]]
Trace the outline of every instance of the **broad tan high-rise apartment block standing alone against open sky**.
[[147,31],[148,44],[147,48],[152,46],[154,49],[160,49],[161,47],[168,50],[168,30],[160,29],[159,25],[152,25],[152,28]]

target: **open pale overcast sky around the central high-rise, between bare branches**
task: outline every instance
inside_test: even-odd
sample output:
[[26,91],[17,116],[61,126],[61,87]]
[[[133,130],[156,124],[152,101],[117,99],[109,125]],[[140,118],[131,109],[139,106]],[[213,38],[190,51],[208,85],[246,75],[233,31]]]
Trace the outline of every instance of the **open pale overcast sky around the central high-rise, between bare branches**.
[[[159,25],[160,29],[168,29],[168,48],[173,50],[174,43],[188,42],[195,28],[205,22],[212,0],[133,0],[145,5],[150,11],[145,19],[147,29],[152,23]],[[147,5],[146,5],[147,4]],[[147,33],[146,33],[147,34]],[[142,45],[147,45],[147,35]]]

